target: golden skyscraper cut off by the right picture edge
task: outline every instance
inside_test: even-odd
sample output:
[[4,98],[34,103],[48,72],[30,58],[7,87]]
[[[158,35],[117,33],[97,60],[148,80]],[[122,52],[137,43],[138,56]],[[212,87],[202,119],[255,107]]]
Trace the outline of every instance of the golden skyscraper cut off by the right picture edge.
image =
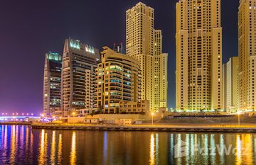
[[239,109],[256,110],[256,1],[240,0],[238,11]]

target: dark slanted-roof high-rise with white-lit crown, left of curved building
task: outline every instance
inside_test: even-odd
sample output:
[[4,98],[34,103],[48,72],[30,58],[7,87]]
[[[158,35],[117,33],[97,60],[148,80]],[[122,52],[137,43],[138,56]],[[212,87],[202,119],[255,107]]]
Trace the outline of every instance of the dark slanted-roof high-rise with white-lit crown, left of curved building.
[[95,68],[100,52],[79,40],[66,39],[63,50],[61,98],[63,116],[85,115],[96,108]]

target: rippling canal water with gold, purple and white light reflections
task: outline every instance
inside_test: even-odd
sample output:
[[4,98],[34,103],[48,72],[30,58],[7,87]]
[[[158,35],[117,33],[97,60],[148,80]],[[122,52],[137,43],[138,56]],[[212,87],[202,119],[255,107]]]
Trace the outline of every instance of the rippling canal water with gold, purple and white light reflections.
[[0,164],[256,164],[256,134],[0,125]]

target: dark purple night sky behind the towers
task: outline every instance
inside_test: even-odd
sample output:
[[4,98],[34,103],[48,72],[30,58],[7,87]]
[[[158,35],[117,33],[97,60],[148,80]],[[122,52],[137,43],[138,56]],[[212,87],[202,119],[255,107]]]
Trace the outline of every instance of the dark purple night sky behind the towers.
[[[169,53],[169,108],[175,107],[176,1],[142,1],[154,8],[154,28]],[[139,1],[2,1],[0,113],[43,111],[43,65],[48,51],[63,53],[65,38],[102,50],[125,43],[125,11]],[[239,0],[222,0],[223,62],[238,56]]]

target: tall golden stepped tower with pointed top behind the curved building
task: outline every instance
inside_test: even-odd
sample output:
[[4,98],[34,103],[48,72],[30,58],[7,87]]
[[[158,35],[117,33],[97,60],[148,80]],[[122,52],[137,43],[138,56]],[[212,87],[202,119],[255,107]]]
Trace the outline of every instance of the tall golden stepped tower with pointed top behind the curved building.
[[149,101],[152,111],[167,108],[167,54],[161,44],[161,30],[154,30],[154,9],[141,2],[128,9],[126,54],[140,62],[142,100]]

